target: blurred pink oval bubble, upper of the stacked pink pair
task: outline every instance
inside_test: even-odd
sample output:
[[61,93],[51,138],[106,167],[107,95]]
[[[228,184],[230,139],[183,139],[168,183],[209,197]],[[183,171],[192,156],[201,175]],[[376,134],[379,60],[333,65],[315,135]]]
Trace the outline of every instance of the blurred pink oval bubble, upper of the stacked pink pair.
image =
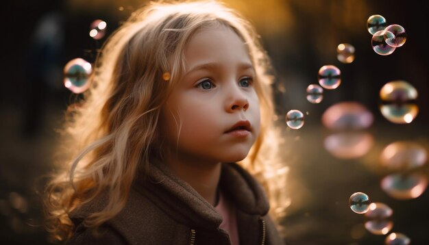
[[345,101],[328,107],[321,120],[329,129],[366,129],[372,125],[373,116],[364,105]]

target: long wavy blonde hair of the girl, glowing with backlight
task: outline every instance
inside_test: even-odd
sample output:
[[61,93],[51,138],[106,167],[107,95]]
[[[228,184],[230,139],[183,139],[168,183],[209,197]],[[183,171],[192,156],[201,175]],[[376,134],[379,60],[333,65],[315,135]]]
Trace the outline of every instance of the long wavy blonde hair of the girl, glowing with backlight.
[[136,172],[162,158],[161,109],[184,74],[186,44],[197,29],[219,24],[243,40],[256,70],[260,135],[239,164],[265,186],[274,214],[284,211],[284,181],[278,180],[286,171],[275,159],[278,144],[272,130],[273,75],[256,31],[215,1],[151,2],[108,38],[84,99],[66,111],[60,169],[45,190],[47,228],[53,237],[70,237],[71,211],[102,192],[108,192],[106,206],[84,220],[86,227],[96,229],[123,209]]

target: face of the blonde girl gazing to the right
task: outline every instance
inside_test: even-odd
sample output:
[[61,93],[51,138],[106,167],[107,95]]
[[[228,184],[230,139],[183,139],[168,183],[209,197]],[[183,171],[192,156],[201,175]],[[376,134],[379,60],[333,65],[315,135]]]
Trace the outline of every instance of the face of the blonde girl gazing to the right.
[[162,112],[169,146],[188,161],[244,159],[258,137],[260,111],[243,40],[228,27],[203,29],[185,59],[184,76]]

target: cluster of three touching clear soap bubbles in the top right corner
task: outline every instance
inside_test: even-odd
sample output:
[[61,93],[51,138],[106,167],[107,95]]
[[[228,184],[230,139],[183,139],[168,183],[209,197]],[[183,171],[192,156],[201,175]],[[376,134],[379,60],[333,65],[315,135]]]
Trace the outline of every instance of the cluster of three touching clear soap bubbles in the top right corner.
[[390,55],[406,41],[406,32],[400,25],[387,26],[386,18],[379,14],[369,16],[367,29],[372,35],[372,49],[379,55]]

